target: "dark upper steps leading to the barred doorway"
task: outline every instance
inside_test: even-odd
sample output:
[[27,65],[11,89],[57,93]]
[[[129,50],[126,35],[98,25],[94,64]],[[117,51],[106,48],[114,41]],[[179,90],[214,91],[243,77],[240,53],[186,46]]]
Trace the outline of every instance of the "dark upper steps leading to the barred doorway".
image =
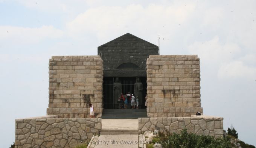
[[102,119],[137,119],[147,117],[146,109],[103,109]]

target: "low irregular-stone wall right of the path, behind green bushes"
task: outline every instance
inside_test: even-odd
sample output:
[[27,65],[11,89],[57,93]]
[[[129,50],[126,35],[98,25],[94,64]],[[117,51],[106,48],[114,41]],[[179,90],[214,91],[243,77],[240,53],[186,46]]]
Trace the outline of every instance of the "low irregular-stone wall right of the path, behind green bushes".
[[184,128],[188,133],[223,137],[223,118],[211,116],[172,117],[172,118],[138,118],[139,134],[145,131],[180,133]]

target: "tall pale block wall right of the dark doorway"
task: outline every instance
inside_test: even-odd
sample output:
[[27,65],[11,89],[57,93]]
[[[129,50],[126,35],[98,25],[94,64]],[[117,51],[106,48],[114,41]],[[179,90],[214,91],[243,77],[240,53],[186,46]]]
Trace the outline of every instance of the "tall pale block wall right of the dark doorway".
[[147,59],[148,117],[203,113],[197,55],[150,55]]

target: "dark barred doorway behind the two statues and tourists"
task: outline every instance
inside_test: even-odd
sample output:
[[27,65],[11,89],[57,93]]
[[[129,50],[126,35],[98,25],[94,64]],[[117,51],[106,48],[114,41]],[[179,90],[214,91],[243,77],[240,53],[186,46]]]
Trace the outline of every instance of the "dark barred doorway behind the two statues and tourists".
[[[113,82],[114,77],[104,77],[103,79],[103,104],[104,109],[117,109],[119,108],[119,103],[113,100]],[[122,84],[122,93],[125,96],[126,93],[134,94],[134,83],[136,82],[136,77],[120,77],[120,82]],[[145,108],[145,96],[146,96],[146,77],[140,77],[143,84],[143,98],[142,105],[140,108]]]

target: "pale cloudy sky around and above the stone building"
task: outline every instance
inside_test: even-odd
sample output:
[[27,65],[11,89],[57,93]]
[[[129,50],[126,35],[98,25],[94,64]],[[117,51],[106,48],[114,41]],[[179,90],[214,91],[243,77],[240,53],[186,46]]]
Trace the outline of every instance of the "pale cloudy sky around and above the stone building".
[[0,0],[0,147],[15,119],[46,115],[52,55],[97,55],[125,33],[197,54],[203,114],[256,145],[256,1]]

